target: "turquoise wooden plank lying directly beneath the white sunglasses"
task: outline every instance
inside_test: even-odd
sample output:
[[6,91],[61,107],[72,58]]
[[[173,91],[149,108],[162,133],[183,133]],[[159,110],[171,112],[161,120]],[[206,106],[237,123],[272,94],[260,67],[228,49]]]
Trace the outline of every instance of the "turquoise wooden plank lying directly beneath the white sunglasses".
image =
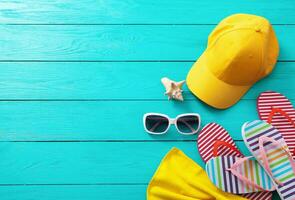
[[203,125],[220,123],[239,140],[243,123],[258,118],[255,100],[242,100],[227,110],[216,110],[200,101],[4,101],[0,102],[0,141],[195,139],[196,136],[178,134],[174,127],[163,136],[145,133],[142,116],[147,112],[171,117],[197,112]]

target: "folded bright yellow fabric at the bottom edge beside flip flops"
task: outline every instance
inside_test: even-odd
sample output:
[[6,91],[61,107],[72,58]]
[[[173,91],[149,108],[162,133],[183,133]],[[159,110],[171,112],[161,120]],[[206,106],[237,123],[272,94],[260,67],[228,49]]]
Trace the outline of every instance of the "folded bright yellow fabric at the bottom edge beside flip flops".
[[148,200],[242,200],[210,182],[206,172],[173,148],[162,160],[147,189]]

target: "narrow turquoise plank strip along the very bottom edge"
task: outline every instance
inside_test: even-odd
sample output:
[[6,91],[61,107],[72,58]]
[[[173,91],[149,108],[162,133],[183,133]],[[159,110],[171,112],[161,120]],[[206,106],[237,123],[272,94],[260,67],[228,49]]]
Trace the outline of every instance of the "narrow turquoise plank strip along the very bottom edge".
[[0,186],[2,200],[139,200],[147,185]]

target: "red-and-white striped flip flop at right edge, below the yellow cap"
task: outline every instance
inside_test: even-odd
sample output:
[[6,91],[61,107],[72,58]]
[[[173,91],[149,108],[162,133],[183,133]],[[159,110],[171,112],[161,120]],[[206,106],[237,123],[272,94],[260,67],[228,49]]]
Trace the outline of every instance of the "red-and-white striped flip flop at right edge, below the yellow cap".
[[285,139],[295,158],[295,109],[284,95],[274,92],[262,92],[257,98],[259,118],[272,124]]

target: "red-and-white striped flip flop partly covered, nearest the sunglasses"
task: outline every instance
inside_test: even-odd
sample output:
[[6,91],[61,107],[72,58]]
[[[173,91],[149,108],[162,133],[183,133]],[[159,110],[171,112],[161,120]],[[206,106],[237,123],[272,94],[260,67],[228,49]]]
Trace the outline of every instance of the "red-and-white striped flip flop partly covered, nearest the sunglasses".
[[[244,157],[238,150],[229,133],[219,124],[209,123],[201,130],[197,139],[197,147],[205,163],[217,156]],[[271,200],[271,192],[255,192],[241,195],[251,200]]]

